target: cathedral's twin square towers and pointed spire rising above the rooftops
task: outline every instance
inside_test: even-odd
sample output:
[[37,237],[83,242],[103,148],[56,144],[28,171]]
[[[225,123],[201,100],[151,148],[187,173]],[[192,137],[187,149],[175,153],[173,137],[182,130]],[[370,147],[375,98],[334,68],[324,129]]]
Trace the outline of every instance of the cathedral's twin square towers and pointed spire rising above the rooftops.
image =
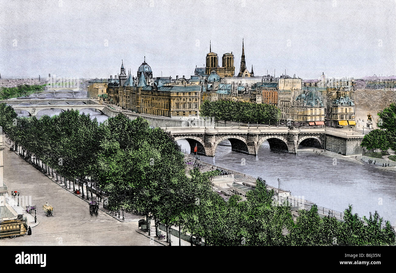
[[[235,66],[234,66],[234,55],[231,53],[223,54],[222,66],[219,66],[219,58],[217,53],[212,52],[211,42],[209,46],[209,53],[206,54],[206,68],[205,74],[209,75],[211,71],[215,71],[221,78],[224,77],[234,77],[235,76]],[[251,66],[251,72],[246,68],[245,62],[245,48],[244,40],[242,39],[242,57],[241,57],[241,67],[239,70],[238,77],[253,77],[253,65]]]

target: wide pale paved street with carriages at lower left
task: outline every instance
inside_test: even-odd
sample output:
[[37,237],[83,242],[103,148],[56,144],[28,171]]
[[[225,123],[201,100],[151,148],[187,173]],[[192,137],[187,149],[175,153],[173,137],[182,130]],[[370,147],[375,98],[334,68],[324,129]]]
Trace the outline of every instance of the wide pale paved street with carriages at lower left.
[[[89,215],[88,203],[55,184],[21,157],[4,149],[4,183],[8,190],[20,192],[20,198],[31,196],[30,205],[37,206],[40,224],[32,227],[32,235],[1,239],[9,245],[160,245],[137,233],[137,222],[119,222],[99,210]],[[54,216],[46,217],[42,205],[53,206]]]

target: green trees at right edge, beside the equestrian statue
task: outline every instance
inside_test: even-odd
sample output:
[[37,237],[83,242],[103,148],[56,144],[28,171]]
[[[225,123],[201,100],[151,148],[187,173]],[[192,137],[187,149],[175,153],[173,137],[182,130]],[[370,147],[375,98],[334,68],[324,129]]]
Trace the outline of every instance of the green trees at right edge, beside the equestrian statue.
[[377,124],[381,129],[375,129],[365,135],[361,146],[368,150],[379,149],[385,152],[390,148],[396,151],[396,104],[390,104],[377,115],[381,118],[381,122]]

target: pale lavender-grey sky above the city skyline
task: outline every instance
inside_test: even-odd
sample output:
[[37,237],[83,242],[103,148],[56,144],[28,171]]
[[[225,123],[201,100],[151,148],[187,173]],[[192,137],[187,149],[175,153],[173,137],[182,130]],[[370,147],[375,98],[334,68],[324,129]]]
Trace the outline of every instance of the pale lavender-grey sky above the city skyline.
[[189,78],[211,49],[238,74],[303,79],[396,74],[396,1],[0,0],[2,76]]

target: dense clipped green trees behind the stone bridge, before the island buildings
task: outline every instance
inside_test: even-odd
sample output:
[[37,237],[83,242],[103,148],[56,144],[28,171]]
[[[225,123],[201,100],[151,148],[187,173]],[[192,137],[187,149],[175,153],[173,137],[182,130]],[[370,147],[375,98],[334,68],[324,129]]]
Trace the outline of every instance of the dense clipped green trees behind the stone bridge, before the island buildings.
[[221,99],[201,104],[200,114],[213,117],[215,121],[240,121],[243,123],[259,123],[276,125],[279,122],[280,110],[270,104]]

